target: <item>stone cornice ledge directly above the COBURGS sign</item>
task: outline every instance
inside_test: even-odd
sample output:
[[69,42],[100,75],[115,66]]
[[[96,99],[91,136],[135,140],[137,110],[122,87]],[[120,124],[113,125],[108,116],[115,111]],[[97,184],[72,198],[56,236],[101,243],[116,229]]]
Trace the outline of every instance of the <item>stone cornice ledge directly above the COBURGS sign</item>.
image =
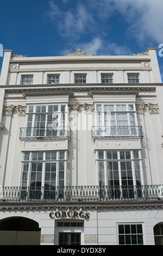
[[41,203],[41,202],[2,202],[0,203],[0,212],[1,211],[39,211],[39,210],[45,210],[45,211],[54,211],[55,209],[59,209],[60,211],[65,211],[67,208],[70,208],[70,210],[77,209],[79,210],[82,206],[83,210],[91,210],[91,211],[108,211],[108,210],[133,210],[133,209],[139,209],[139,210],[163,210],[163,201],[162,200],[152,200],[152,201],[124,201],[124,202],[47,202],[47,203]]

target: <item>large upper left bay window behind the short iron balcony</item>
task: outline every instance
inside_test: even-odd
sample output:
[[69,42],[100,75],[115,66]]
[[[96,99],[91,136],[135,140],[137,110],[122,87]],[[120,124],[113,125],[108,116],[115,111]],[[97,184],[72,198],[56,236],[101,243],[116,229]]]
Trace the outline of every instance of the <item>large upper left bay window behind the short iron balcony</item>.
[[26,122],[24,137],[68,136],[68,106],[67,104],[29,105]]

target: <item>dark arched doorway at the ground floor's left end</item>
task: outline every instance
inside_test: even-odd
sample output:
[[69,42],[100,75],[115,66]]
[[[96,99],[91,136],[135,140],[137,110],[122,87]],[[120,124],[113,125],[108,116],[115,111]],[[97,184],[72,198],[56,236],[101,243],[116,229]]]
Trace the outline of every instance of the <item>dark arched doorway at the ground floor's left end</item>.
[[0,221],[0,245],[40,245],[39,224],[29,218],[12,217]]

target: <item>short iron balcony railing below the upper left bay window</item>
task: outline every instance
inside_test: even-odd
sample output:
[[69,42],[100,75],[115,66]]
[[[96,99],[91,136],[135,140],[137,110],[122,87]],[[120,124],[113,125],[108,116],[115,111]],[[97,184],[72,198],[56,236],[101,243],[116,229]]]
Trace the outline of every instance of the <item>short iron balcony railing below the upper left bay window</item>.
[[21,127],[20,139],[70,138],[70,127]]

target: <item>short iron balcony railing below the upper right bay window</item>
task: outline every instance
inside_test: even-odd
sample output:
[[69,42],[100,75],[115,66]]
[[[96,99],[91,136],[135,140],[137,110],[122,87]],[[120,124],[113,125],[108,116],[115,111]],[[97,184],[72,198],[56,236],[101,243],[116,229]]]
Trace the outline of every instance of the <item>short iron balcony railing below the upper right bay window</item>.
[[142,138],[142,126],[92,126],[92,138]]

